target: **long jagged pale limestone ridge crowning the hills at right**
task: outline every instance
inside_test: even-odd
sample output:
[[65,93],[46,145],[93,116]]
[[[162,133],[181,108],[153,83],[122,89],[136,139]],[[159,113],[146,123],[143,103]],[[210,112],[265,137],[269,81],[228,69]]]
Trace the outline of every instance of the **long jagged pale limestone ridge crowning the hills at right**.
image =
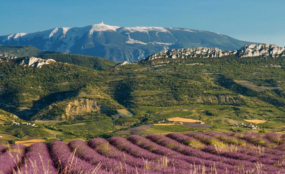
[[146,60],[154,60],[157,58],[213,58],[222,57],[228,55],[237,55],[241,58],[243,57],[253,57],[253,56],[271,56],[273,58],[278,56],[285,56],[285,48],[278,47],[274,44],[248,44],[243,46],[240,50],[224,51],[219,48],[181,48],[181,49],[171,49],[158,52],[148,56]]

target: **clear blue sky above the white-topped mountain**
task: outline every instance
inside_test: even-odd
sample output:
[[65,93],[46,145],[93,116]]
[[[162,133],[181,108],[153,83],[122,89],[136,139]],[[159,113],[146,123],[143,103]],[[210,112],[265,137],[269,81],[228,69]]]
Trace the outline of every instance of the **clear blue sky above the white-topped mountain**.
[[104,21],[116,26],[161,26],[215,31],[285,46],[284,0],[5,0],[0,35]]

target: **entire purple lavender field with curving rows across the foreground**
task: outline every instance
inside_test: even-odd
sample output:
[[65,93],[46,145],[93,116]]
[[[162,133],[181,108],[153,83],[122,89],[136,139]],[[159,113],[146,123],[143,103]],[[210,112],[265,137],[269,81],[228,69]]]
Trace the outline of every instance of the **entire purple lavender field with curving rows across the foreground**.
[[1,174],[285,173],[285,135],[170,133],[0,146]]

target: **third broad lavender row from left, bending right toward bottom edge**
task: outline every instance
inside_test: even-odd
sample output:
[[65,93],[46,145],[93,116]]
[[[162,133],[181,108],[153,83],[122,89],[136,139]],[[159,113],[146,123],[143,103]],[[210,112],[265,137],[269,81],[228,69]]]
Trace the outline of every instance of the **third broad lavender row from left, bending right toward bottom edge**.
[[101,170],[99,166],[87,163],[75,156],[75,154],[70,152],[68,146],[62,141],[56,141],[50,144],[50,155],[54,161],[54,165],[58,167],[61,173],[109,173]]

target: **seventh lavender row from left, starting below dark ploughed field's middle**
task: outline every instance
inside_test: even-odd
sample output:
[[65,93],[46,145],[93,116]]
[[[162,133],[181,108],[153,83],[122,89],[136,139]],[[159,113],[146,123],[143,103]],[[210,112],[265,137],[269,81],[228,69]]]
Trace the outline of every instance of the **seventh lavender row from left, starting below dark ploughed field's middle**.
[[[224,164],[221,162],[217,162],[217,161],[211,161],[211,160],[201,160],[198,157],[192,157],[192,156],[186,156],[183,155],[181,153],[178,153],[174,150],[168,149],[164,146],[160,146],[150,140],[148,140],[147,138],[144,138],[142,136],[138,136],[138,135],[131,135],[129,136],[129,138],[127,138],[127,140],[131,141],[133,144],[146,149],[152,153],[156,153],[158,155],[164,155],[169,157],[170,159],[175,159],[173,160],[176,162],[176,164],[174,164],[176,167],[181,167],[181,168],[189,168],[190,164],[196,164],[196,165],[205,165],[207,168],[206,172],[211,172],[212,169],[211,167],[213,167],[213,163],[215,163],[215,166],[218,169],[223,169],[225,170],[227,168],[227,170],[233,170],[234,167],[228,164]],[[183,162],[186,161],[187,163]],[[185,164],[184,164],[185,163]],[[190,163],[190,164],[189,164]],[[184,164],[184,165],[183,165]],[[218,172],[218,171],[217,171]]]

